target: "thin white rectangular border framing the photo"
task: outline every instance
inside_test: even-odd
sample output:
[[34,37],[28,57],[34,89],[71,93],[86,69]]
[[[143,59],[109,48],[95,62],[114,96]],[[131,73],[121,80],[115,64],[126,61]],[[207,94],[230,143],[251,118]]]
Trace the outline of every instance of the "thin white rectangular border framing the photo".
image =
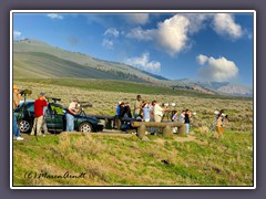
[[[10,101],[13,86],[14,13],[252,13],[253,14],[253,186],[13,186],[13,136],[10,133],[10,189],[256,189],[256,11],[255,10],[11,10],[10,11]],[[12,103],[10,102],[12,132]]]

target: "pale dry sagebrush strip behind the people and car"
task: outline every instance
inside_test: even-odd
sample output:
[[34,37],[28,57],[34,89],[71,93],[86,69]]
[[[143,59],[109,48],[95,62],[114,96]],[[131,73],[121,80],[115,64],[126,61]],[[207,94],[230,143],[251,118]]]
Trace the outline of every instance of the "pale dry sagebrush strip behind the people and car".
[[[86,114],[99,115],[114,115],[115,107],[119,101],[129,102],[132,109],[135,102],[136,94],[125,92],[109,92],[109,91],[92,91],[88,88],[78,88],[69,86],[53,85],[51,90],[50,84],[16,81],[16,84],[20,88],[32,90],[31,100],[37,98],[38,93],[45,92],[48,96],[60,97],[60,102],[63,106],[68,106],[69,103],[76,96],[82,102],[89,102],[93,104],[93,107],[85,108]],[[142,94],[142,93],[140,93]],[[253,102],[246,100],[224,100],[224,98],[198,98],[192,96],[174,96],[174,95],[151,95],[142,94],[143,100],[152,102],[157,100],[165,103],[176,103],[177,106],[172,108],[178,113],[184,108],[190,108],[192,112],[196,112],[197,115],[192,117],[192,125],[195,128],[207,126],[213,123],[215,118],[214,111],[225,108],[228,114],[229,124],[227,129],[229,130],[248,130],[253,132]]]

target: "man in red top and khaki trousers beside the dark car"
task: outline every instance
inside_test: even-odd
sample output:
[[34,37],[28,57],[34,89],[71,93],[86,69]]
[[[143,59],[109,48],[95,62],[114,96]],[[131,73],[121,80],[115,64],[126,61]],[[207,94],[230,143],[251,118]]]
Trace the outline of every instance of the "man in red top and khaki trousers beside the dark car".
[[37,132],[37,135],[41,135],[41,127],[43,123],[43,107],[48,105],[48,102],[45,100],[45,93],[40,93],[39,98],[34,102],[34,122],[33,127],[31,129],[31,135],[34,135]]

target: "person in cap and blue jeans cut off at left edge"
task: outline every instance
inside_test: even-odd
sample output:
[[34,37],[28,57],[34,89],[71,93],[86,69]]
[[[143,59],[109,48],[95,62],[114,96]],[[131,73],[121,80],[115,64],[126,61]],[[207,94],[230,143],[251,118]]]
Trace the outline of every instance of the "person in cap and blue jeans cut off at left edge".
[[[13,85],[13,111],[20,103],[21,94],[19,93],[19,87]],[[20,130],[13,112],[13,136],[16,140],[23,140],[24,138],[20,136]]]

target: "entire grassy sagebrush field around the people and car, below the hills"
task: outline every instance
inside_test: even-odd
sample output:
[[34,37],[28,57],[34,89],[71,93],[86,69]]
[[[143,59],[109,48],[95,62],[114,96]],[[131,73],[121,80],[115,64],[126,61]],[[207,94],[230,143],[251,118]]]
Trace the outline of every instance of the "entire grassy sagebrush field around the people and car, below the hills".
[[[21,90],[93,104],[88,114],[114,115],[119,101],[176,103],[196,112],[188,137],[68,134],[13,142],[14,186],[253,186],[253,101],[205,95],[147,84],[100,80],[16,80]],[[216,138],[207,130],[214,111],[225,108],[229,124]],[[29,172],[31,171],[31,172]],[[83,172],[83,176],[80,176]],[[62,178],[64,175],[80,178]],[[34,177],[37,175],[37,177]],[[85,175],[85,176],[84,176]],[[60,177],[61,176],[61,177]],[[39,177],[39,178],[38,178]]]

